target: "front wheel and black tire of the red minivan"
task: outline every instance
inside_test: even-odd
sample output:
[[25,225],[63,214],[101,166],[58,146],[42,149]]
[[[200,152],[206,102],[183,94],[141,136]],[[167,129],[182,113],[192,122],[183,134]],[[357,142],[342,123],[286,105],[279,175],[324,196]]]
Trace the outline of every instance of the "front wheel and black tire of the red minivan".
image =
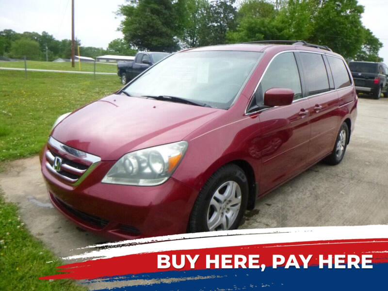
[[248,202],[248,180],[235,164],[218,169],[205,183],[190,215],[190,232],[236,229]]

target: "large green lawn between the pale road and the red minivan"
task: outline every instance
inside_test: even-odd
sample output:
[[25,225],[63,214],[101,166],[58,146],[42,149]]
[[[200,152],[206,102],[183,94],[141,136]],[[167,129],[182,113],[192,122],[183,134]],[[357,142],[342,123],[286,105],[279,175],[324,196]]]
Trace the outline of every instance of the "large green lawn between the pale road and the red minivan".
[[37,154],[59,115],[121,86],[114,75],[0,70],[0,162]]

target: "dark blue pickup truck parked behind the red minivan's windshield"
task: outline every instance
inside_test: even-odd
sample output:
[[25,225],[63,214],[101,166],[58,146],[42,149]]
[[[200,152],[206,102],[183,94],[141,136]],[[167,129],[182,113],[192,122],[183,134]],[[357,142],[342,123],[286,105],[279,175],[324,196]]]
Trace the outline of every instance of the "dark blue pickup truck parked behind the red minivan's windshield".
[[132,62],[118,62],[117,75],[121,78],[121,83],[125,85],[141,72],[149,68],[170,55],[166,52],[138,52]]

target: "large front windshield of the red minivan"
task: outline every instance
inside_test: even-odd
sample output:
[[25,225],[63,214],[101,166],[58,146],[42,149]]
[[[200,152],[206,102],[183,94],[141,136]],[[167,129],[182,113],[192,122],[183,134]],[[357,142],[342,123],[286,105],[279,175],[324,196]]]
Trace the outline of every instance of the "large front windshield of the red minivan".
[[262,53],[193,51],[176,53],[125,88],[130,96],[174,96],[228,109]]

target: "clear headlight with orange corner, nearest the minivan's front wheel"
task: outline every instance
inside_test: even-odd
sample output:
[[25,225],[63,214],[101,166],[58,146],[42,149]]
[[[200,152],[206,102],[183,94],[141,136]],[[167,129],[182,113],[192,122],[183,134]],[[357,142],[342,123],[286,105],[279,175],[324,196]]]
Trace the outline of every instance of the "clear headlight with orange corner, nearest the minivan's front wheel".
[[118,160],[102,183],[155,186],[174,173],[187,149],[187,142],[154,146],[128,154]]

